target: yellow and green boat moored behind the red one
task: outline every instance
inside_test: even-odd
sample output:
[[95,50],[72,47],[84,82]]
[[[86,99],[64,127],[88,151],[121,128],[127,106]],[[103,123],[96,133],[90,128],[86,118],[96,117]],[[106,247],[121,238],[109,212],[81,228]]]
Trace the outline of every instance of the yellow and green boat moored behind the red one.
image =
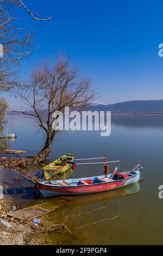
[[59,157],[54,162],[47,164],[47,166],[43,168],[46,180],[53,180],[56,178],[56,174],[61,174],[73,169],[73,160],[74,155],[70,152],[67,155]]

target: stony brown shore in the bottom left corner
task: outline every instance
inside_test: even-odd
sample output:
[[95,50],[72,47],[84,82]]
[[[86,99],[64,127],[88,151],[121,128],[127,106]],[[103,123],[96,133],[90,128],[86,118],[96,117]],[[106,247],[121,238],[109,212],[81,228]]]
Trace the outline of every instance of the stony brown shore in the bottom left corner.
[[40,239],[44,234],[54,230],[65,230],[71,235],[67,227],[60,224],[51,224],[40,218],[40,224],[33,223],[33,220],[18,220],[10,217],[8,212],[12,206],[4,199],[0,199],[0,245],[40,245]]

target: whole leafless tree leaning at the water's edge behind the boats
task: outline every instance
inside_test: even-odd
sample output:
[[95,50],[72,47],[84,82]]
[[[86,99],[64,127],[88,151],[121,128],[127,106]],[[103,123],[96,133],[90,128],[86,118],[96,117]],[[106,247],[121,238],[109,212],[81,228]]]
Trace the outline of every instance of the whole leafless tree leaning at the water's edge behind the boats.
[[91,81],[78,77],[78,70],[69,65],[68,58],[59,57],[54,65],[44,64],[33,70],[30,82],[16,87],[15,95],[31,109],[23,112],[34,117],[36,124],[45,131],[46,143],[41,150],[49,152],[57,131],[53,130],[53,112],[63,112],[65,107],[78,110],[91,104],[96,94]]

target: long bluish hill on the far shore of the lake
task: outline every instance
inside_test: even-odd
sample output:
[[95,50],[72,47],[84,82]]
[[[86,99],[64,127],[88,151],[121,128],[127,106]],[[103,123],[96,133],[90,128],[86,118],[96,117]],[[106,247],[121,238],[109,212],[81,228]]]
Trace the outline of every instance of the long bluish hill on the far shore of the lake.
[[134,100],[109,105],[91,106],[91,110],[111,111],[119,114],[159,114],[163,113],[163,100]]

